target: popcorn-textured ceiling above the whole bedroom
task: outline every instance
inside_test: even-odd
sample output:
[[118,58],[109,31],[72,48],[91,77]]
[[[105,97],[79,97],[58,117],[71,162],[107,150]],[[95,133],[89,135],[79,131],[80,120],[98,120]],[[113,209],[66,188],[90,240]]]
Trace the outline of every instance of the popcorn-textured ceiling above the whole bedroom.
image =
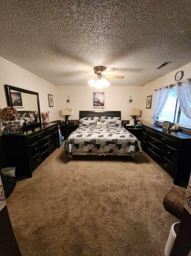
[[1,0],[0,56],[55,85],[86,85],[97,65],[144,85],[191,62],[190,26],[190,0]]

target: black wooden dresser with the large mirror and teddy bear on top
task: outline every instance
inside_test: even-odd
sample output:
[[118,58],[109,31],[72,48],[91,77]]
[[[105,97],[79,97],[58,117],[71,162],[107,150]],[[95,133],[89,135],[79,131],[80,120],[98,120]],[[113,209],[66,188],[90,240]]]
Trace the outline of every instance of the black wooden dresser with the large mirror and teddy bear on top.
[[58,124],[41,124],[15,135],[4,135],[6,167],[16,167],[16,177],[32,177],[32,172],[60,147]]

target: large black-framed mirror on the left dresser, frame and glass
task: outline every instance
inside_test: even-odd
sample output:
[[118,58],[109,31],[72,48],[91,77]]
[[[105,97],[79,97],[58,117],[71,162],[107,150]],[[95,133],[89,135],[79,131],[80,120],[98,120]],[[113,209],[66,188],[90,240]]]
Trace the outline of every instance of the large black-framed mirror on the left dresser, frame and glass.
[[7,105],[14,107],[20,114],[22,128],[31,126],[30,114],[33,114],[36,126],[41,123],[39,94],[18,87],[4,85]]

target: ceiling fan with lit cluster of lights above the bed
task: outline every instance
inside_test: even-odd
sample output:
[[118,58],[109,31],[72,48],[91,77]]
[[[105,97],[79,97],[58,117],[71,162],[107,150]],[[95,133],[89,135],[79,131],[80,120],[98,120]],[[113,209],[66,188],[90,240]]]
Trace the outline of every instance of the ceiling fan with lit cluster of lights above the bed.
[[117,79],[124,78],[124,76],[109,75],[109,74],[107,74],[107,72],[110,72],[110,71],[108,71],[107,68],[104,66],[94,67],[94,73],[97,76],[95,78],[89,80],[89,85],[94,86],[96,88],[108,87],[108,86],[110,86],[110,83],[106,80],[106,78],[117,78]]

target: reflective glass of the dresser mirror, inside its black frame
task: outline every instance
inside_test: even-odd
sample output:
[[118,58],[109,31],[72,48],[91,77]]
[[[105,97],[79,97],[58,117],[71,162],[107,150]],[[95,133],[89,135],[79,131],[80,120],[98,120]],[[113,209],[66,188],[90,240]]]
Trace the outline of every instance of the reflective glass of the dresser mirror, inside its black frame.
[[11,102],[14,108],[18,111],[21,118],[21,125],[31,123],[30,113],[34,115],[34,123],[39,122],[39,116],[36,114],[38,111],[37,95],[24,92],[10,90]]

